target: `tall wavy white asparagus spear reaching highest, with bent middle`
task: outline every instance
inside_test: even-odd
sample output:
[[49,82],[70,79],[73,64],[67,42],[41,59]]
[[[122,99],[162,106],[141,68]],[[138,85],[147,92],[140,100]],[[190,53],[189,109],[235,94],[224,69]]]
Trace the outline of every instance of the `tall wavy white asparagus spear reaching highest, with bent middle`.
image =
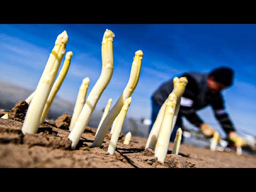
[[[113,75],[114,59],[113,59],[113,38],[115,34],[111,30],[106,30],[101,45],[102,70],[100,77],[93,86],[88,98],[85,101],[84,107],[77,118],[74,128],[71,130],[68,138],[72,141],[71,149],[75,149],[79,138],[81,138],[85,127],[89,123],[93,110],[97,105],[101,94],[109,84]],[[98,135],[98,134],[97,134]]]

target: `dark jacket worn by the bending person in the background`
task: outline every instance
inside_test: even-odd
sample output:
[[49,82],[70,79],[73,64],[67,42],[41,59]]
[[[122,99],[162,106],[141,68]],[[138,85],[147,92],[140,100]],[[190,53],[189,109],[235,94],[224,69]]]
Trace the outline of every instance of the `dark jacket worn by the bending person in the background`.
[[[222,129],[228,133],[235,131],[233,123],[230,121],[229,115],[225,110],[225,103],[221,93],[211,93],[207,89],[208,74],[190,72],[182,74],[179,77],[187,77],[188,84],[185,92],[182,95],[179,115],[185,116],[188,121],[199,127],[203,121],[196,114],[196,111],[210,105],[214,111],[215,117],[218,119]],[[159,104],[163,105],[173,90],[173,79],[163,83],[153,93],[153,99]]]

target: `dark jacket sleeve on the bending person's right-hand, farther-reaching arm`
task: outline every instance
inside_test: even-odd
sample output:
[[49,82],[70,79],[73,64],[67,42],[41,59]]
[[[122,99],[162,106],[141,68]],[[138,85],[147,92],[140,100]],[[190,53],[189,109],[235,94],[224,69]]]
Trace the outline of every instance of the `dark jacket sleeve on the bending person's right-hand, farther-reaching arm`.
[[217,99],[211,103],[211,106],[214,111],[214,116],[220,123],[223,131],[225,131],[226,134],[228,134],[230,131],[236,131],[225,109],[223,97],[221,94],[219,94],[219,97],[217,97]]

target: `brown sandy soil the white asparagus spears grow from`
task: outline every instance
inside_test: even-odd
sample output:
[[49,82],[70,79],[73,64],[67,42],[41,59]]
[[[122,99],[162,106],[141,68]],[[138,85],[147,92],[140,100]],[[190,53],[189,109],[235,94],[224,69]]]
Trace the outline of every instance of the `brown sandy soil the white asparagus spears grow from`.
[[[26,103],[25,103],[26,104]],[[24,103],[20,103],[24,106]],[[23,110],[23,111],[22,111]],[[87,126],[75,150],[70,149],[68,125],[70,116],[63,114],[56,121],[41,124],[35,134],[22,134],[21,127],[26,113],[13,109],[9,119],[0,118],[0,167],[97,167],[97,168],[203,168],[203,167],[256,167],[256,157],[237,155],[235,151],[211,151],[181,144],[179,155],[172,153],[170,142],[165,162],[154,157],[154,151],[145,150],[147,138],[132,137],[124,145],[121,134],[114,155],[108,153],[111,134],[108,133],[101,147],[91,147],[95,130]],[[18,111],[18,112],[17,112]],[[7,113],[2,111],[2,115]],[[1,115],[1,116],[2,116]]]

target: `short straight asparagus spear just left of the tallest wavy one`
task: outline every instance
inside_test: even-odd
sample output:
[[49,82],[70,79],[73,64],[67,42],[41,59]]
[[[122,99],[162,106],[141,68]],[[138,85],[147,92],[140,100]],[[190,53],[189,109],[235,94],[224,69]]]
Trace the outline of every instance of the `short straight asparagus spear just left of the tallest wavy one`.
[[69,125],[69,131],[71,131],[75,126],[76,120],[84,107],[85,98],[86,98],[89,85],[90,85],[90,78],[89,77],[84,78],[81,86],[79,87],[79,91],[77,94],[76,104],[75,104],[73,115],[71,117],[71,121]]

